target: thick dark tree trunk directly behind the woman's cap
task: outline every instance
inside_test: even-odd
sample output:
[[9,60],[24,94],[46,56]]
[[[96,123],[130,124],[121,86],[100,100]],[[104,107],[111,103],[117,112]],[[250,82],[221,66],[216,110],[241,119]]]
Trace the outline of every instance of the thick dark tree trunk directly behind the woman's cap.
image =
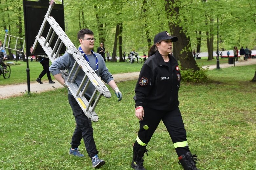
[[[176,14],[179,14],[179,7],[172,6],[175,0],[165,0],[167,5],[165,6],[165,10],[167,11],[168,18],[176,18]],[[177,3],[177,2],[176,2]],[[174,10],[174,11],[171,11]],[[171,21],[171,20],[169,20]],[[173,43],[173,55],[179,56],[179,60],[181,63],[181,67],[186,69],[193,69],[195,71],[200,70],[194,60],[194,56],[192,53],[190,37],[186,36],[182,27],[169,22],[169,28],[173,36],[178,37],[178,42]]]

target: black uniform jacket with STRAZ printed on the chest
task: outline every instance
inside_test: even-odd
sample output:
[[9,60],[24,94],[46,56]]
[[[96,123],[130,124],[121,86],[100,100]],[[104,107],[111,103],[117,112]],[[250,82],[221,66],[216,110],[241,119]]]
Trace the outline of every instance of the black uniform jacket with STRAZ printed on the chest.
[[170,54],[169,58],[171,63],[164,62],[157,51],[145,61],[135,87],[135,107],[173,110],[179,106],[181,74],[177,60]]

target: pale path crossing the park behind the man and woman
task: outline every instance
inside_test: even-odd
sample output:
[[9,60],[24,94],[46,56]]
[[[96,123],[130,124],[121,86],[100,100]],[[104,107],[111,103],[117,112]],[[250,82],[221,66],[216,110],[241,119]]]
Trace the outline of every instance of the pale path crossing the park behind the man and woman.
[[[245,66],[245,65],[252,65],[256,64],[256,59],[249,59],[248,61],[243,61],[239,63],[235,63],[235,66]],[[232,64],[220,64],[220,68],[227,68],[227,67],[232,67],[234,65]],[[209,66],[203,66],[203,68],[209,67],[210,70],[216,68],[215,65],[209,65]],[[114,74],[113,75],[114,80],[116,82],[122,82],[122,81],[127,81],[127,80],[134,80],[139,77],[139,72],[133,72],[133,73],[123,73],[123,74]],[[44,91],[49,91],[49,90],[54,90],[55,88],[64,88],[60,83],[56,82],[54,84],[49,84],[48,81],[43,81],[43,84],[39,83],[30,83],[30,91],[34,93],[39,93],[39,92],[44,92]],[[23,95],[23,93],[28,90],[28,85],[27,83],[25,84],[19,84],[19,85],[6,85],[6,86],[1,86],[0,88],[0,99],[6,99],[14,96],[20,96]]]

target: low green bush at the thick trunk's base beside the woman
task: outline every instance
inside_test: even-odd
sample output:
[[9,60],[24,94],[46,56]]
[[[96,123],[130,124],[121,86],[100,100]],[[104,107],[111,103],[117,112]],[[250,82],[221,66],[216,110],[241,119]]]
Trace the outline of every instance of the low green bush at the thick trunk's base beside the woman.
[[207,69],[204,69],[200,67],[200,70],[194,71],[193,69],[186,69],[182,70],[181,68],[181,76],[182,76],[182,81],[184,82],[192,82],[192,83],[202,83],[202,82],[207,82],[207,74],[206,72],[208,71]]

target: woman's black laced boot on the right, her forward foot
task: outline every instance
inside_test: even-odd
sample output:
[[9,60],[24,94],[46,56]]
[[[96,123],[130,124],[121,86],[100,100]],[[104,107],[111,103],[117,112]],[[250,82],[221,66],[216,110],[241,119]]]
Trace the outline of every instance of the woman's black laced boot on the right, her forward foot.
[[186,157],[181,155],[179,157],[179,164],[183,167],[184,170],[200,170],[196,168],[196,155],[192,155],[191,152],[187,152]]

